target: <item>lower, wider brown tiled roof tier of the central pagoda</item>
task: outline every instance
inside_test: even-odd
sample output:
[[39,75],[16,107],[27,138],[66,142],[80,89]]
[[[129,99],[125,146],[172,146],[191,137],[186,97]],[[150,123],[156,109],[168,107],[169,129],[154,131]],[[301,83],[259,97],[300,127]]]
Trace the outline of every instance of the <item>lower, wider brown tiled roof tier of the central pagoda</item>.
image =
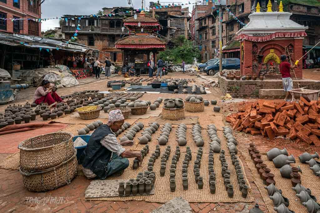
[[166,43],[153,35],[130,35],[116,42],[118,49],[164,49]]

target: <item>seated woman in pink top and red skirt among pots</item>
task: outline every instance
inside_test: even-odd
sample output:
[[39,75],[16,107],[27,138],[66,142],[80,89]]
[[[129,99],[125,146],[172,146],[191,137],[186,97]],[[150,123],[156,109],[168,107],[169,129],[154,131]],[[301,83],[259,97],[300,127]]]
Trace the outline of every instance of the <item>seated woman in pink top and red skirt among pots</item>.
[[48,103],[48,105],[64,102],[55,91],[52,91],[53,88],[48,80],[42,80],[41,86],[36,89],[34,102],[36,104]]

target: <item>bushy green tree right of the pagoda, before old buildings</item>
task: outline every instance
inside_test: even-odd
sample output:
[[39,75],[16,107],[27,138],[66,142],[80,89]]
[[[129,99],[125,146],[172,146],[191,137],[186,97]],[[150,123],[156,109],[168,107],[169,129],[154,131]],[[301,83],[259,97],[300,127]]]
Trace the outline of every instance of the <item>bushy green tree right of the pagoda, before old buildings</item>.
[[166,49],[159,53],[159,56],[162,57],[164,61],[172,61],[174,64],[180,64],[182,60],[184,60],[186,64],[192,64],[194,58],[198,61],[201,58],[199,48],[193,45],[193,43],[183,35],[173,39],[172,42],[175,44],[172,49]]

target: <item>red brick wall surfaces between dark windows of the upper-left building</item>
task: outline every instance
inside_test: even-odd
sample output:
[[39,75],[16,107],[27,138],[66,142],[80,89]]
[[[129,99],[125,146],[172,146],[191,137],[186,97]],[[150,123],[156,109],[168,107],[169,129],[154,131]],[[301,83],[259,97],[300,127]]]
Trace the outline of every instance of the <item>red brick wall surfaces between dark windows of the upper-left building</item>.
[[[37,19],[41,18],[41,7],[39,7],[39,13],[36,14],[28,10],[28,0],[20,0],[20,8],[13,6],[13,0],[7,0],[7,3],[0,2],[0,12],[7,14],[7,30],[0,30],[0,32],[13,33],[13,22],[11,19],[18,17],[21,19]],[[41,36],[41,23],[39,25],[39,36]],[[20,30],[20,34],[28,34],[28,20],[23,20],[23,30]]]

